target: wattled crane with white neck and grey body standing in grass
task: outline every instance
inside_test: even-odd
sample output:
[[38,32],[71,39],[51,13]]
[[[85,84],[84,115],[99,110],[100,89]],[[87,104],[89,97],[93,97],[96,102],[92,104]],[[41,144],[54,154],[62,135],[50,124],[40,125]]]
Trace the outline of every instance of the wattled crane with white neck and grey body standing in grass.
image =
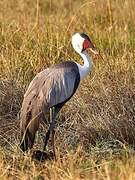
[[67,101],[75,94],[82,81],[91,71],[93,61],[87,49],[100,55],[91,39],[85,33],[75,33],[71,43],[73,49],[82,57],[83,65],[68,60],[52,65],[39,72],[30,82],[20,112],[20,131],[22,151],[31,149],[41,120],[49,113],[49,128],[44,138],[43,151],[51,135],[53,154],[55,154],[54,135],[56,116]]

